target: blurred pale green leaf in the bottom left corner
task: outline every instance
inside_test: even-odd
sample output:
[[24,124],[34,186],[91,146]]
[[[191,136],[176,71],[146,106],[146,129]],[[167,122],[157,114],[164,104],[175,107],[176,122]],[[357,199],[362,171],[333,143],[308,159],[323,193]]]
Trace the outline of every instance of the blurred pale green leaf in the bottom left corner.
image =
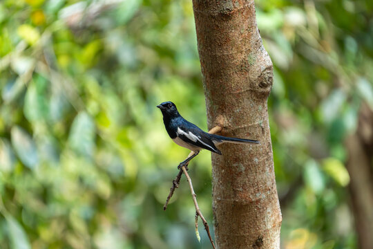
[[28,242],[28,237],[22,226],[9,214],[5,214],[4,216],[6,218],[6,224],[8,225],[10,241],[12,241],[12,248],[30,249],[30,242]]

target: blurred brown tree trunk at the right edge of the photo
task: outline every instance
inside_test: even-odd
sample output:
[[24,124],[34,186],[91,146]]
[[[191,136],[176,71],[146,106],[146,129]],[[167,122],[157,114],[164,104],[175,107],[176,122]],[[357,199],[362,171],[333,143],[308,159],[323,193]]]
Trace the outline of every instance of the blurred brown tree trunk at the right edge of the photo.
[[363,104],[356,133],[347,137],[347,170],[359,248],[373,248],[373,111]]

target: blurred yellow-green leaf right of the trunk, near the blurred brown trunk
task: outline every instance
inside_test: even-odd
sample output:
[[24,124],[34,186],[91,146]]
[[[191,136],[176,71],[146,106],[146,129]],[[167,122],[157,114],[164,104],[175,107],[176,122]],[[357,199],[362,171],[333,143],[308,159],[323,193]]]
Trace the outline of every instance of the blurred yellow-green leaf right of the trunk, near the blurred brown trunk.
[[323,169],[342,187],[350,183],[350,174],[348,174],[345,165],[343,165],[340,160],[336,158],[327,158],[323,160]]

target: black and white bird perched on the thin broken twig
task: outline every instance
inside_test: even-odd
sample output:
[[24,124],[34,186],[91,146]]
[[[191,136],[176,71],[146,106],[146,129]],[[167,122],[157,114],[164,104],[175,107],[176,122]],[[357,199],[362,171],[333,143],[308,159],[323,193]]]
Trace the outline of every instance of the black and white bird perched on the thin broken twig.
[[157,107],[162,111],[164,126],[173,142],[194,152],[193,155],[180,163],[179,167],[185,165],[189,160],[197,156],[201,149],[208,149],[209,151],[221,155],[222,152],[216,145],[220,145],[223,142],[232,142],[236,144],[259,143],[258,140],[227,138],[204,132],[195,124],[182,118],[175,104],[171,101],[163,102],[157,105]]

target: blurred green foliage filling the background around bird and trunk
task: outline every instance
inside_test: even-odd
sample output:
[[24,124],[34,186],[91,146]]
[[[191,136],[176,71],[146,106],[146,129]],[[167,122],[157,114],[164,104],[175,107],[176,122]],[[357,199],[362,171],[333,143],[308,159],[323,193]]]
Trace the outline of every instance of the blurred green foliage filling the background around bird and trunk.
[[[373,108],[373,2],[256,1],[283,248],[356,248],[343,139]],[[1,248],[210,248],[188,151],[155,105],[207,129],[190,0],[0,1]],[[212,227],[210,153],[190,167]]]

